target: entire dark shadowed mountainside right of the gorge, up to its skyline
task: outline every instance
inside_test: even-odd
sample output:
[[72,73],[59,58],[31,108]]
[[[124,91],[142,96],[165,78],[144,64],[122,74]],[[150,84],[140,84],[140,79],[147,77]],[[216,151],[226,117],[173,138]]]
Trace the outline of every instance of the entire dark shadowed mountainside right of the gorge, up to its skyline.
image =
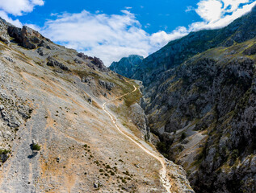
[[174,40],[134,75],[158,150],[196,192],[256,191],[256,7],[229,26]]

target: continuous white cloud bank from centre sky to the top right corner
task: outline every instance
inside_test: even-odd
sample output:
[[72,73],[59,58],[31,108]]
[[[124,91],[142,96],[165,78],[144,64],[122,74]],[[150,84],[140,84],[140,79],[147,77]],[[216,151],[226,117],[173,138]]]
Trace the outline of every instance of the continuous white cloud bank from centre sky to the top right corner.
[[170,33],[158,31],[148,34],[129,10],[111,15],[92,14],[86,10],[77,14],[60,14],[45,23],[41,32],[66,47],[96,55],[108,66],[112,61],[131,54],[147,56],[191,31],[225,27],[251,10],[255,2],[240,7],[241,3],[248,1],[201,0],[196,9],[187,9],[195,10],[203,21],[191,23],[189,27],[177,27]]

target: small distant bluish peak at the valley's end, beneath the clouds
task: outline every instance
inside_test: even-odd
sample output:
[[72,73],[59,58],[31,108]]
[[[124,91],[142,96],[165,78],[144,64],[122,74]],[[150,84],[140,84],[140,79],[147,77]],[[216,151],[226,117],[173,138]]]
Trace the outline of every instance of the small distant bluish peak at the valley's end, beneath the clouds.
[[140,68],[143,56],[141,55],[129,55],[122,58],[119,62],[113,62],[109,69],[119,73],[122,76],[131,78],[136,71],[136,68]]

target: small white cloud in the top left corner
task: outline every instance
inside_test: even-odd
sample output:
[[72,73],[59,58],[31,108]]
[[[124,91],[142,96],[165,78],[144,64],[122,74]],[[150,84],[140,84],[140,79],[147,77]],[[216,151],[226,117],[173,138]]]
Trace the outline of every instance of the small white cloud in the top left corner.
[[0,10],[13,15],[29,13],[35,6],[43,5],[43,0],[0,0]]

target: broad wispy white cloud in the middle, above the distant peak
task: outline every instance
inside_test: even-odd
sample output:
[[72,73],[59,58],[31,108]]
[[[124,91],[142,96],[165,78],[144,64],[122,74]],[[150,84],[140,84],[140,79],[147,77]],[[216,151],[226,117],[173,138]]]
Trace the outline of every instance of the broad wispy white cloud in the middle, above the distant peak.
[[123,14],[62,14],[45,23],[42,33],[55,42],[87,55],[100,57],[106,65],[124,56],[147,56],[155,51],[150,35],[141,29],[135,15],[128,10]]

